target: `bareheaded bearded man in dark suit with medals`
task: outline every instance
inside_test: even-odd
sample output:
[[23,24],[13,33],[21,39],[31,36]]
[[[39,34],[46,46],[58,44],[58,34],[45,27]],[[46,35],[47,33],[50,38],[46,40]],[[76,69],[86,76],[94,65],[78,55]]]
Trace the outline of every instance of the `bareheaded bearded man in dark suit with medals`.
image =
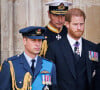
[[80,9],[68,10],[67,36],[49,44],[46,58],[56,64],[59,90],[91,90],[98,53],[96,44],[82,38],[85,18]]

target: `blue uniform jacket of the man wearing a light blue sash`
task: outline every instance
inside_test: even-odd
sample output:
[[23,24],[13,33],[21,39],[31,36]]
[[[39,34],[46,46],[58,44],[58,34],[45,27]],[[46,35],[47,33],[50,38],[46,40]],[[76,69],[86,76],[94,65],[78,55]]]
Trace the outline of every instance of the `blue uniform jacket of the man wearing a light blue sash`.
[[[12,90],[10,66],[8,63],[9,60],[11,60],[13,63],[16,84],[18,88],[21,88],[23,86],[24,75],[26,72],[30,72],[30,74],[32,75],[32,83],[34,83],[34,80],[36,79],[37,75],[42,69],[42,63],[43,63],[42,59],[43,59],[42,57],[38,56],[37,65],[36,65],[35,72],[33,75],[24,54],[9,58],[7,61],[3,63],[2,69],[0,72],[0,90]],[[52,69],[51,69],[51,81],[52,81],[52,89],[53,89],[53,85],[56,85],[56,71],[55,71],[54,64],[52,65]]]

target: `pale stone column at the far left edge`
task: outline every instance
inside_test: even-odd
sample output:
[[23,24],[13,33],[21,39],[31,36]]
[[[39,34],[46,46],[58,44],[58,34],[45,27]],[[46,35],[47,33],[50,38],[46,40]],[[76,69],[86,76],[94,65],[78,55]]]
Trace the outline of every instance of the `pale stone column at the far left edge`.
[[1,59],[13,55],[13,1],[1,0]]

